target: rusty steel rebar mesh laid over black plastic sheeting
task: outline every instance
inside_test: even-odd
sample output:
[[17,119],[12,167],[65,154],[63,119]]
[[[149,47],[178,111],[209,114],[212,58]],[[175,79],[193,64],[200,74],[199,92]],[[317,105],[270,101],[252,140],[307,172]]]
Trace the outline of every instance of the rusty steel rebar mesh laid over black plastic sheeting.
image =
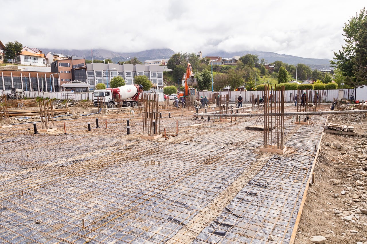
[[[181,110],[161,112],[175,134]],[[121,116],[92,132],[90,118],[68,120],[72,134],[37,134],[37,147],[24,125],[1,130],[1,242],[289,243],[323,126],[286,123],[295,153],[280,159],[259,152],[250,121],[198,129],[186,112],[177,137],[142,141],[141,120],[121,135]]]

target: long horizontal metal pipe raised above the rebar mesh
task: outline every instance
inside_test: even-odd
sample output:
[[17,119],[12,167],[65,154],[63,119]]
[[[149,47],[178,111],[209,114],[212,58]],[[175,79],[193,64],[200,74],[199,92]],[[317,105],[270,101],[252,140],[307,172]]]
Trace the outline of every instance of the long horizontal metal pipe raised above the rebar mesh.
[[[285,112],[283,113],[284,116],[288,115],[324,115],[324,114],[367,114],[367,110],[347,110],[347,111],[318,111],[318,112]],[[208,116],[208,117],[230,117],[233,116],[233,114],[212,114],[212,113],[206,113],[206,114],[193,114],[194,117],[199,116]],[[271,116],[278,115],[277,113],[269,114]],[[279,114],[280,115],[280,114]],[[258,116],[264,116],[264,114],[236,114],[236,117],[258,117]]]

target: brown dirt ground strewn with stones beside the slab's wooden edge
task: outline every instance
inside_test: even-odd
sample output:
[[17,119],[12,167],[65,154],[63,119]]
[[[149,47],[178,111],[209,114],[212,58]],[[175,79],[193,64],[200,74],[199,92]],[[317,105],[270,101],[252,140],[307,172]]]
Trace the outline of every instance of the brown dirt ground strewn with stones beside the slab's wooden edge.
[[295,244],[319,235],[326,237],[322,243],[367,244],[367,115],[337,119],[354,126],[356,135],[324,133]]

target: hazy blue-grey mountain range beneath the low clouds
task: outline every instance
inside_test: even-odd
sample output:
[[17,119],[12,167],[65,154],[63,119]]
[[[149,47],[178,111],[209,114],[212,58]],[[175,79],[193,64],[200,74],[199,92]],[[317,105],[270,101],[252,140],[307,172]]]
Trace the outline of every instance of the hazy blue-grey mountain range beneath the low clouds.
[[[77,49],[40,49],[43,53],[56,52],[63,53],[67,55],[74,55],[84,57],[91,60],[93,59],[103,60],[111,59],[112,62],[117,63],[119,61],[127,61],[133,57],[137,57],[141,62],[149,59],[167,59],[170,58],[175,52],[172,49],[150,49],[141,52],[115,52],[106,49],[93,49],[93,50],[77,50]],[[275,52],[263,52],[263,51],[240,51],[240,52],[211,52],[204,56],[221,56],[224,58],[232,58],[233,56],[243,56],[247,53],[258,55],[259,60],[265,59],[267,63],[272,63],[274,61],[282,61],[283,63],[297,65],[298,63],[303,63],[308,65],[311,69],[317,70],[330,70],[330,60],[329,59],[312,59],[312,58],[302,58],[287,54],[279,54]]]

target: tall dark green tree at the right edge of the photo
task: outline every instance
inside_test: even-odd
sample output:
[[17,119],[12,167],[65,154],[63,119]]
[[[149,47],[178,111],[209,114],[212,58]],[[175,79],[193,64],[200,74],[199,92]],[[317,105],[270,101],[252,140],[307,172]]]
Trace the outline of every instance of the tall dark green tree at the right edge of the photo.
[[[334,52],[334,59],[337,60],[331,61],[330,63],[334,65],[334,67],[338,67],[338,69],[341,71],[341,74],[345,76],[345,83],[347,85],[362,85],[366,84],[366,80],[359,80],[357,82],[356,78],[356,45],[363,40],[360,40],[360,37],[363,36],[363,34],[360,34],[360,32],[365,31],[363,30],[364,22],[367,19],[367,10],[363,8],[360,10],[359,15],[358,12],[356,12],[355,17],[351,17],[348,23],[345,23],[345,26],[343,27],[345,37],[345,45],[342,46],[342,49],[339,50],[339,52]],[[362,49],[366,49],[366,47],[360,46]],[[359,51],[360,51],[359,48]],[[360,83],[361,82],[361,83]]]

